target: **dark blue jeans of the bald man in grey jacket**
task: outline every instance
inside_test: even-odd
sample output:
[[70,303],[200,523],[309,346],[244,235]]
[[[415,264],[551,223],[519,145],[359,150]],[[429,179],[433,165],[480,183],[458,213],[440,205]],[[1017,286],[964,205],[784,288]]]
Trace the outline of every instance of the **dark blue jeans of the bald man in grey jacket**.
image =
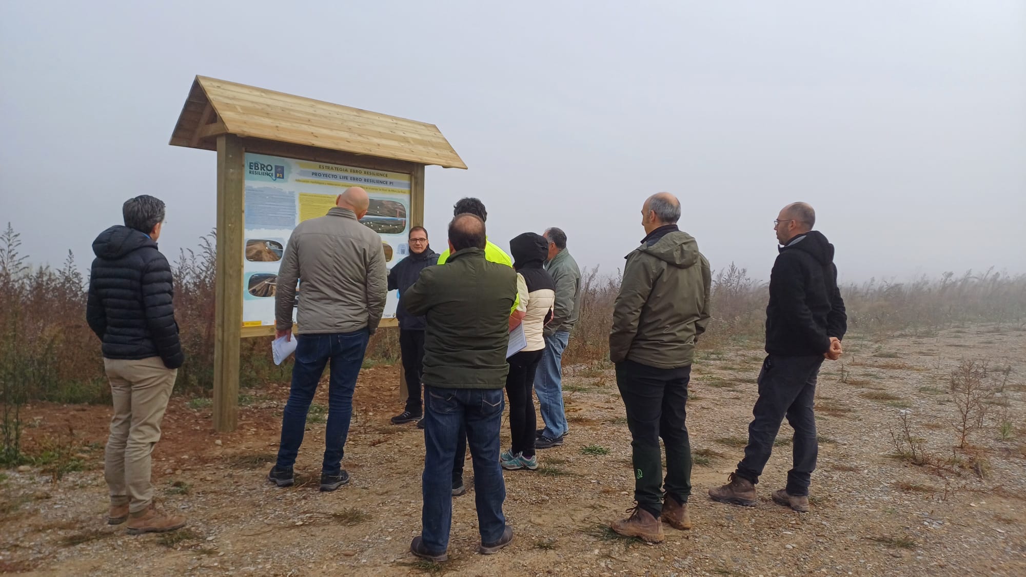
[[291,467],[303,444],[307,428],[307,412],[331,361],[328,381],[327,428],[324,431],[324,463],[321,472],[339,474],[345,453],[349,421],[353,416],[353,389],[363,364],[369,334],[366,329],[356,333],[330,335],[297,335],[295,363],[292,366],[292,389],[281,416],[281,445],[278,448],[278,468]]

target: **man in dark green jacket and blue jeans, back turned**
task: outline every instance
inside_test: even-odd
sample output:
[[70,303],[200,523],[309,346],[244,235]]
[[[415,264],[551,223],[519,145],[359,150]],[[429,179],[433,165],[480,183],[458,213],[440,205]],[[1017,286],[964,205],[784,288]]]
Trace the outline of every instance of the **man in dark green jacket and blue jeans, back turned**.
[[449,224],[445,266],[428,267],[400,299],[406,312],[424,316],[424,475],[421,535],[415,555],[447,559],[452,523],[452,462],[466,430],[477,488],[481,553],[513,539],[506,525],[506,485],[499,465],[503,387],[509,366],[509,315],[516,272],[485,259],[484,221],[463,214]]

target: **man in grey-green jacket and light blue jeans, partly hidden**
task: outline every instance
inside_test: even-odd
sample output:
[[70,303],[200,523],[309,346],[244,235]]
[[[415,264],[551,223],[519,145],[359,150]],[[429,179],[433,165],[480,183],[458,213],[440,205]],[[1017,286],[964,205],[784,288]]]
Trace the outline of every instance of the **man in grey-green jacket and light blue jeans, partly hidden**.
[[545,326],[545,354],[535,374],[535,392],[545,421],[545,428],[538,431],[536,449],[563,444],[567,428],[563,411],[563,349],[581,314],[581,269],[566,249],[566,233],[553,227],[544,236],[549,241],[547,268],[556,283],[556,302],[552,321]]

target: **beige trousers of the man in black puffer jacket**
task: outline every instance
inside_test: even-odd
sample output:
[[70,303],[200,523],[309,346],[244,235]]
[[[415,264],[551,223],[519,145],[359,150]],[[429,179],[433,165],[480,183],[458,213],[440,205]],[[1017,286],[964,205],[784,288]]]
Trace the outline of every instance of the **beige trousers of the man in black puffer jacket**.
[[164,367],[159,356],[104,358],[104,369],[114,398],[104,471],[111,504],[127,503],[130,512],[139,512],[153,501],[150,455],[160,440],[160,422],[179,371]]

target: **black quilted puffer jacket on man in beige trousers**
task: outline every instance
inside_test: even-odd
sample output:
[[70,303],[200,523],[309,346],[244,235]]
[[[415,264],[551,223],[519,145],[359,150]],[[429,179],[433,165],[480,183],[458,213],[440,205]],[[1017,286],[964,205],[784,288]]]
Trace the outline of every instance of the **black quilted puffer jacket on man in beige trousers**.
[[159,356],[168,369],[182,367],[171,267],[157,243],[119,225],[100,233],[92,252],[85,318],[104,343],[104,357]]

